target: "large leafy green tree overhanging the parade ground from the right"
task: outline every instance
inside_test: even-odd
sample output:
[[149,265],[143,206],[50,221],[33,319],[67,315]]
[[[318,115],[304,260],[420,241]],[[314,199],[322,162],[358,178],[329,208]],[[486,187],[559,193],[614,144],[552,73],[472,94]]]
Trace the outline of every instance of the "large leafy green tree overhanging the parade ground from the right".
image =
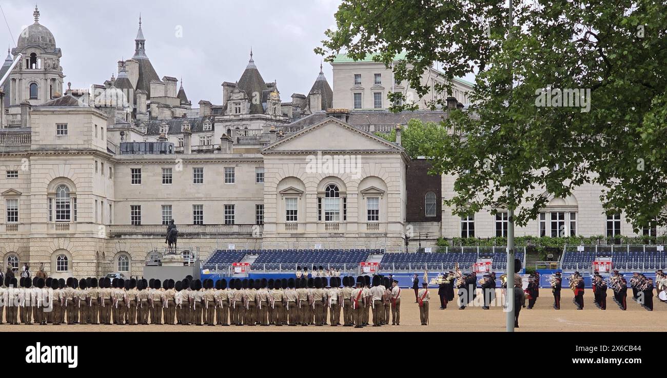
[[454,77],[476,74],[468,112],[454,110],[449,134],[420,152],[456,178],[446,204],[457,214],[516,209],[525,225],[548,202],[543,190],[564,197],[591,182],[636,229],[667,224],[667,3],[512,3],[510,29],[504,1],[344,0],[315,51],[387,67],[404,53],[395,75],[420,95],[434,62],[447,94]]

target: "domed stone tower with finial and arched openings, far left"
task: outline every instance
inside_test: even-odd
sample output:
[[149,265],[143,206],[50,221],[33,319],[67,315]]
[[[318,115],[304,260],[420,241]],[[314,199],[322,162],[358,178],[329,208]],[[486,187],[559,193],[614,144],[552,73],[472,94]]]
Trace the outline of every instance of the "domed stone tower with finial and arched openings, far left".
[[39,10],[33,13],[35,23],[25,28],[19,36],[17,47],[12,49],[14,58],[23,54],[9,77],[9,105],[19,105],[27,100],[38,105],[59,97],[63,93],[63,56],[55,45],[51,31],[39,23]]

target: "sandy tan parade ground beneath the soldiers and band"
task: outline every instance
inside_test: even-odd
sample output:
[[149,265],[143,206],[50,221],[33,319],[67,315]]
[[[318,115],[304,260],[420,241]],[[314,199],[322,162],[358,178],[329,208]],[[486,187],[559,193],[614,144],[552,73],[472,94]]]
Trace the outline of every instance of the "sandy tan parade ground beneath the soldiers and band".
[[[540,298],[533,309],[522,309],[520,314],[520,328],[516,331],[667,331],[667,303],[654,298],[654,311],[646,311],[630,297],[628,310],[621,311],[607,296],[607,309],[602,311],[593,303],[592,291],[586,290],[584,295],[584,309],[577,310],[572,303],[572,291],[562,290],[560,310],[554,310],[553,297],[550,289],[540,289]],[[441,310],[437,289],[431,290],[432,305],[430,306],[429,325],[420,325],[419,308],[414,303],[414,291],[405,290],[402,295],[401,325],[385,325],[383,327],[222,327],[222,326],[195,326],[195,325],[0,325],[2,331],[44,332],[44,331],[85,331],[85,332],[400,332],[400,331],[505,331],[505,313],[502,307],[492,307],[484,310],[481,307],[466,307],[458,309],[456,302],[450,302],[447,309]],[[372,316],[371,316],[372,319]],[[371,321],[372,322],[372,321]]]

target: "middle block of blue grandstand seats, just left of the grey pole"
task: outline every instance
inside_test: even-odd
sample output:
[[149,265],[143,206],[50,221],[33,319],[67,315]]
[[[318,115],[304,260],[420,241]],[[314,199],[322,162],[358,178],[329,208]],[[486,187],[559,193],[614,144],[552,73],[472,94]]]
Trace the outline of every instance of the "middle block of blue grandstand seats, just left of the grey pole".
[[[517,258],[524,262],[524,252],[517,252]],[[478,259],[492,258],[494,270],[502,270],[507,264],[507,254],[501,252],[462,253],[400,253],[385,254],[380,262],[380,270],[451,270],[456,263],[468,269]]]

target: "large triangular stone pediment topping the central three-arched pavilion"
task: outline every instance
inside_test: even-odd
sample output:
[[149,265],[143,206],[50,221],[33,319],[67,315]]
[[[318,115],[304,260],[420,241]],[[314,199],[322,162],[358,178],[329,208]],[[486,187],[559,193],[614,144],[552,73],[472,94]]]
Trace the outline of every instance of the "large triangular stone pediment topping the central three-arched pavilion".
[[269,144],[263,153],[285,152],[397,152],[404,149],[379,136],[360,130],[338,118],[329,117]]

